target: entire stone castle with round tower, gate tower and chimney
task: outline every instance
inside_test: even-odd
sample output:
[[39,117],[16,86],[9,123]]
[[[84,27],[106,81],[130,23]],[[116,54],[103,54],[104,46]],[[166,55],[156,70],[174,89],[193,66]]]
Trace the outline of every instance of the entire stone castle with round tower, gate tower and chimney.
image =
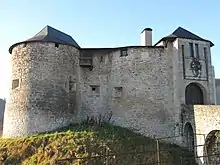
[[[220,130],[214,44],[178,27],[152,45],[81,48],[50,26],[9,48],[12,87],[3,137],[54,130],[87,116],[112,112],[114,124],[172,142],[205,143],[199,134]],[[198,153],[202,151],[197,151]]]

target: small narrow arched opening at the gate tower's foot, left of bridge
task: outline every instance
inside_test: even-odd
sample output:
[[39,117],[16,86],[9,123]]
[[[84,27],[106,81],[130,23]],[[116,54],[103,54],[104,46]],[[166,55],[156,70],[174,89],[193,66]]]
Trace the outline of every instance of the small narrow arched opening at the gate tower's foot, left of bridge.
[[193,133],[193,128],[190,123],[186,123],[184,127],[184,139],[187,148],[194,152],[194,133]]

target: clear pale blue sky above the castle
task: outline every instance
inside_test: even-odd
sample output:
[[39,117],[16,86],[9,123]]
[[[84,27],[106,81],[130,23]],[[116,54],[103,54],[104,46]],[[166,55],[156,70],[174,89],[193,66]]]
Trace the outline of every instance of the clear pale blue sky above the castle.
[[8,98],[8,48],[50,25],[81,47],[140,45],[153,29],[153,43],[181,26],[211,40],[212,63],[220,77],[220,0],[0,0],[0,98]]

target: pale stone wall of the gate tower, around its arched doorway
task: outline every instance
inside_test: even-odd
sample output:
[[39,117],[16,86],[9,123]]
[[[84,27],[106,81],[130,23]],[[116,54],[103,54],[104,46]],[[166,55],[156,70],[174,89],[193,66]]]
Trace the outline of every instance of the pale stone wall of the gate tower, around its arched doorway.
[[[204,41],[195,41],[190,39],[178,39],[178,45],[176,49],[178,50],[178,57],[175,69],[177,70],[178,81],[176,82],[176,104],[181,105],[185,104],[185,89],[186,86],[190,83],[196,83],[200,86],[203,90],[204,95],[204,103],[215,104],[215,82],[214,82],[214,75],[213,75],[213,66],[211,63],[211,50],[210,50],[210,43]],[[200,62],[202,65],[202,74],[200,78],[195,78],[192,74],[192,70],[190,69],[190,63],[192,58],[190,57],[190,48],[189,43],[193,43],[194,45],[194,55],[196,56],[195,44],[199,45],[199,57]],[[182,45],[184,45],[184,61],[182,57]],[[205,57],[204,57],[204,47],[207,49],[207,63],[208,63],[208,74],[206,73],[206,64],[205,64]],[[183,64],[184,63],[184,64]],[[185,72],[185,78],[184,78]],[[207,77],[208,75],[208,77]],[[208,81],[207,81],[208,80]],[[175,82],[174,82],[175,83]],[[177,109],[179,109],[177,107]]]

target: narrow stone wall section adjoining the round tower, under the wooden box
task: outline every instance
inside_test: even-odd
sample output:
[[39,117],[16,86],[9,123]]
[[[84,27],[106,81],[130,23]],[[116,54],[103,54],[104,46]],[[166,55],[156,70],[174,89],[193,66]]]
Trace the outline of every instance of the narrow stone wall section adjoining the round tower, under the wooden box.
[[[93,58],[93,69],[80,68],[82,86],[82,111],[83,118],[89,115],[97,116],[109,111],[109,77],[112,67],[111,49],[88,49],[83,54],[89,54]],[[92,91],[92,88],[96,88]]]

